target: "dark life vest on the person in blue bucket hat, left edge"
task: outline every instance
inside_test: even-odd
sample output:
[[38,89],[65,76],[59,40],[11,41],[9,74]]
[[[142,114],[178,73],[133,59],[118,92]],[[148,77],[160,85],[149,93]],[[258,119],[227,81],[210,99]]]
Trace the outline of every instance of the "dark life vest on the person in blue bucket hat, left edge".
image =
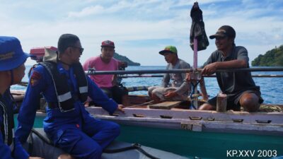
[[[6,98],[11,98],[10,91],[7,90],[6,93],[4,93],[4,96],[7,96]],[[4,143],[11,148],[11,151],[13,151],[13,105],[8,104],[9,103],[2,98],[2,95],[0,95],[0,112],[3,112],[3,114],[1,114],[3,122],[0,123],[1,134]]]

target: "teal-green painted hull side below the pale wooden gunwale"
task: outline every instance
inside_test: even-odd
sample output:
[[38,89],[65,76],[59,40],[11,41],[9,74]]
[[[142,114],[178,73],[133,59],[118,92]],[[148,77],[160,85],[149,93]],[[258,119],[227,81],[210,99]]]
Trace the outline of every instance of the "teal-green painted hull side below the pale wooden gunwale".
[[[119,141],[137,142],[188,158],[227,158],[229,151],[231,154],[233,150],[238,153],[243,150],[248,153],[255,151],[255,158],[259,157],[260,151],[269,150],[272,155],[261,158],[283,155],[283,138],[280,136],[195,132],[141,126],[121,127],[122,131],[117,139]],[[245,152],[243,155],[246,155]]]

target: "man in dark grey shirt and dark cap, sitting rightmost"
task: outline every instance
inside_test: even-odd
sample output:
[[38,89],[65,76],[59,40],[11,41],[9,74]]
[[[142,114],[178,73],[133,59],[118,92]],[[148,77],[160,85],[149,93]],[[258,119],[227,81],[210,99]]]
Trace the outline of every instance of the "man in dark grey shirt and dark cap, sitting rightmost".
[[[215,38],[217,50],[211,54],[204,63],[203,75],[211,75],[217,69],[249,68],[248,51],[245,47],[235,45],[235,30],[224,25],[216,34],[209,38]],[[227,110],[241,110],[256,112],[262,103],[260,87],[255,82],[250,72],[221,72],[216,73],[217,82],[221,93],[227,95]],[[201,105],[200,110],[216,110],[216,97]]]

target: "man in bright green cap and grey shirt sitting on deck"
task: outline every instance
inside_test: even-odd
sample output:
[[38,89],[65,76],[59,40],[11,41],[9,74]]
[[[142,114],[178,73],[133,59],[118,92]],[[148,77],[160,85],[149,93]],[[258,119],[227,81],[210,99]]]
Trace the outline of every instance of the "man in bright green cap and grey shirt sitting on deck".
[[[168,65],[166,69],[190,69],[190,64],[178,58],[176,47],[167,46],[159,54],[165,57]],[[169,82],[172,80],[172,85]],[[153,86],[149,88],[149,97],[154,102],[164,100],[187,100],[190,92],[190,83],[185,81],[185,73],[166,73],[163,76],[161,87]]]

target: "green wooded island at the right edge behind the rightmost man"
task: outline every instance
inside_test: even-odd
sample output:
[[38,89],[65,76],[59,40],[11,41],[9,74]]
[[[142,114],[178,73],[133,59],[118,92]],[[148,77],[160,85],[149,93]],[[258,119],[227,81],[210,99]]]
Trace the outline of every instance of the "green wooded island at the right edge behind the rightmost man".
[[252,66],[283,66],[283,45],[260,54],[252,61]]

